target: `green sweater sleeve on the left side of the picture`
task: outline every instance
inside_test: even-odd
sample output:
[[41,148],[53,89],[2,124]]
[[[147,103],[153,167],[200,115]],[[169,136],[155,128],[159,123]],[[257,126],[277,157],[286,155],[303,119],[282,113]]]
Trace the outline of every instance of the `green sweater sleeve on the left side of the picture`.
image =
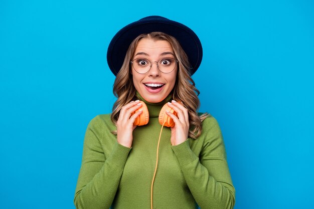
[[76,185],[74,204],[77,209],[110,208],[131,148],[117,143],[105,156],[101,142],[106,143],[106,126],[96,116],[88,124],[83,146],[82,164]]

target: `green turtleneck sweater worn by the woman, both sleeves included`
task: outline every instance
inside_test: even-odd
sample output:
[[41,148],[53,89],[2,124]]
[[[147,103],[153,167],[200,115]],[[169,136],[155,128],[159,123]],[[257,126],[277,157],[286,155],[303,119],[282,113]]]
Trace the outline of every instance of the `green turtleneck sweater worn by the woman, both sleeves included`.
[[[138,94],[140,100],[144,101]],[[158,116],[171,97],[148,103],[149,122],[133,131],[132,147],[117,143],[110,114],[93,118],[86,130],[74,203],[79,208],[150,208],[151,181],[161,131]],[[209,116],[197,139],[172,146],[163,128],[153,184],[153,208],[233,208],[235,189],[219,125]]]

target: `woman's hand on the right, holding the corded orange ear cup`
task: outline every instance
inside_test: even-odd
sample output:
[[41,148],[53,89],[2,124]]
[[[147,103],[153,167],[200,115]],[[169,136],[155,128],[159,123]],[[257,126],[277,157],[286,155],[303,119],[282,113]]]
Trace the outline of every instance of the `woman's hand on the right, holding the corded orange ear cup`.
[[171,103],[168,102],[168,106],[178,114],[177,117],[171,112],[166,112],[176,123],[174,127],[171,127],[171,145],[175,146],[188,139],[190,127],[189,112],[187,108],[175,100],[172,100]]

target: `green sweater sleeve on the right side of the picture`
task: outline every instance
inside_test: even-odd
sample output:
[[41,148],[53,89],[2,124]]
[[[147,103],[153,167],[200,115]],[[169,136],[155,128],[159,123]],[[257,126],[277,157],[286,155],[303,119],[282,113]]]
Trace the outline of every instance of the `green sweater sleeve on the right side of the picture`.
[[203,136],[200,137],[205,137],[205,139],[199,157],[190,148],[189,140],[193,139],[172,146],[172,149],[200,208],[232,209],[235,204],[235,188],[232,184],[223,137],[217,121],[213,117],[205,119],[203,131]]

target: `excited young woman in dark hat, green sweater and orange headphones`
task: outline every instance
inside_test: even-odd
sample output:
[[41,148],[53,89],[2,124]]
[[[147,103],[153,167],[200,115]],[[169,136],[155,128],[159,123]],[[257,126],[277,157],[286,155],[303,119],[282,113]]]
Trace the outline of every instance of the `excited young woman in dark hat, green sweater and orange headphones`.
[[[163,17],[114,36],[107,61],[117,101],[86,130],[76,208],[233,208],[219,125],[198,113],[191,75],[201,60],[196,34]],[[146,125],[136,123],[141,116]]]

